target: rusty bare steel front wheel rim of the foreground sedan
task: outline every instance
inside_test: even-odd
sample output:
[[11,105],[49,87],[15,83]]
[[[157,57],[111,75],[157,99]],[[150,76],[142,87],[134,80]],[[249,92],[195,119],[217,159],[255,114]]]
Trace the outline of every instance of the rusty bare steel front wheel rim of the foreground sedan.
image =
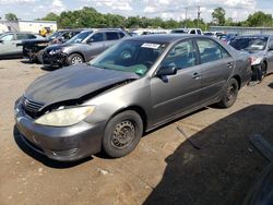
[[116,148],[124,148],[134,138],[135,129],[131,121],[126,120],[118,123],[112,133],[111,144]]

